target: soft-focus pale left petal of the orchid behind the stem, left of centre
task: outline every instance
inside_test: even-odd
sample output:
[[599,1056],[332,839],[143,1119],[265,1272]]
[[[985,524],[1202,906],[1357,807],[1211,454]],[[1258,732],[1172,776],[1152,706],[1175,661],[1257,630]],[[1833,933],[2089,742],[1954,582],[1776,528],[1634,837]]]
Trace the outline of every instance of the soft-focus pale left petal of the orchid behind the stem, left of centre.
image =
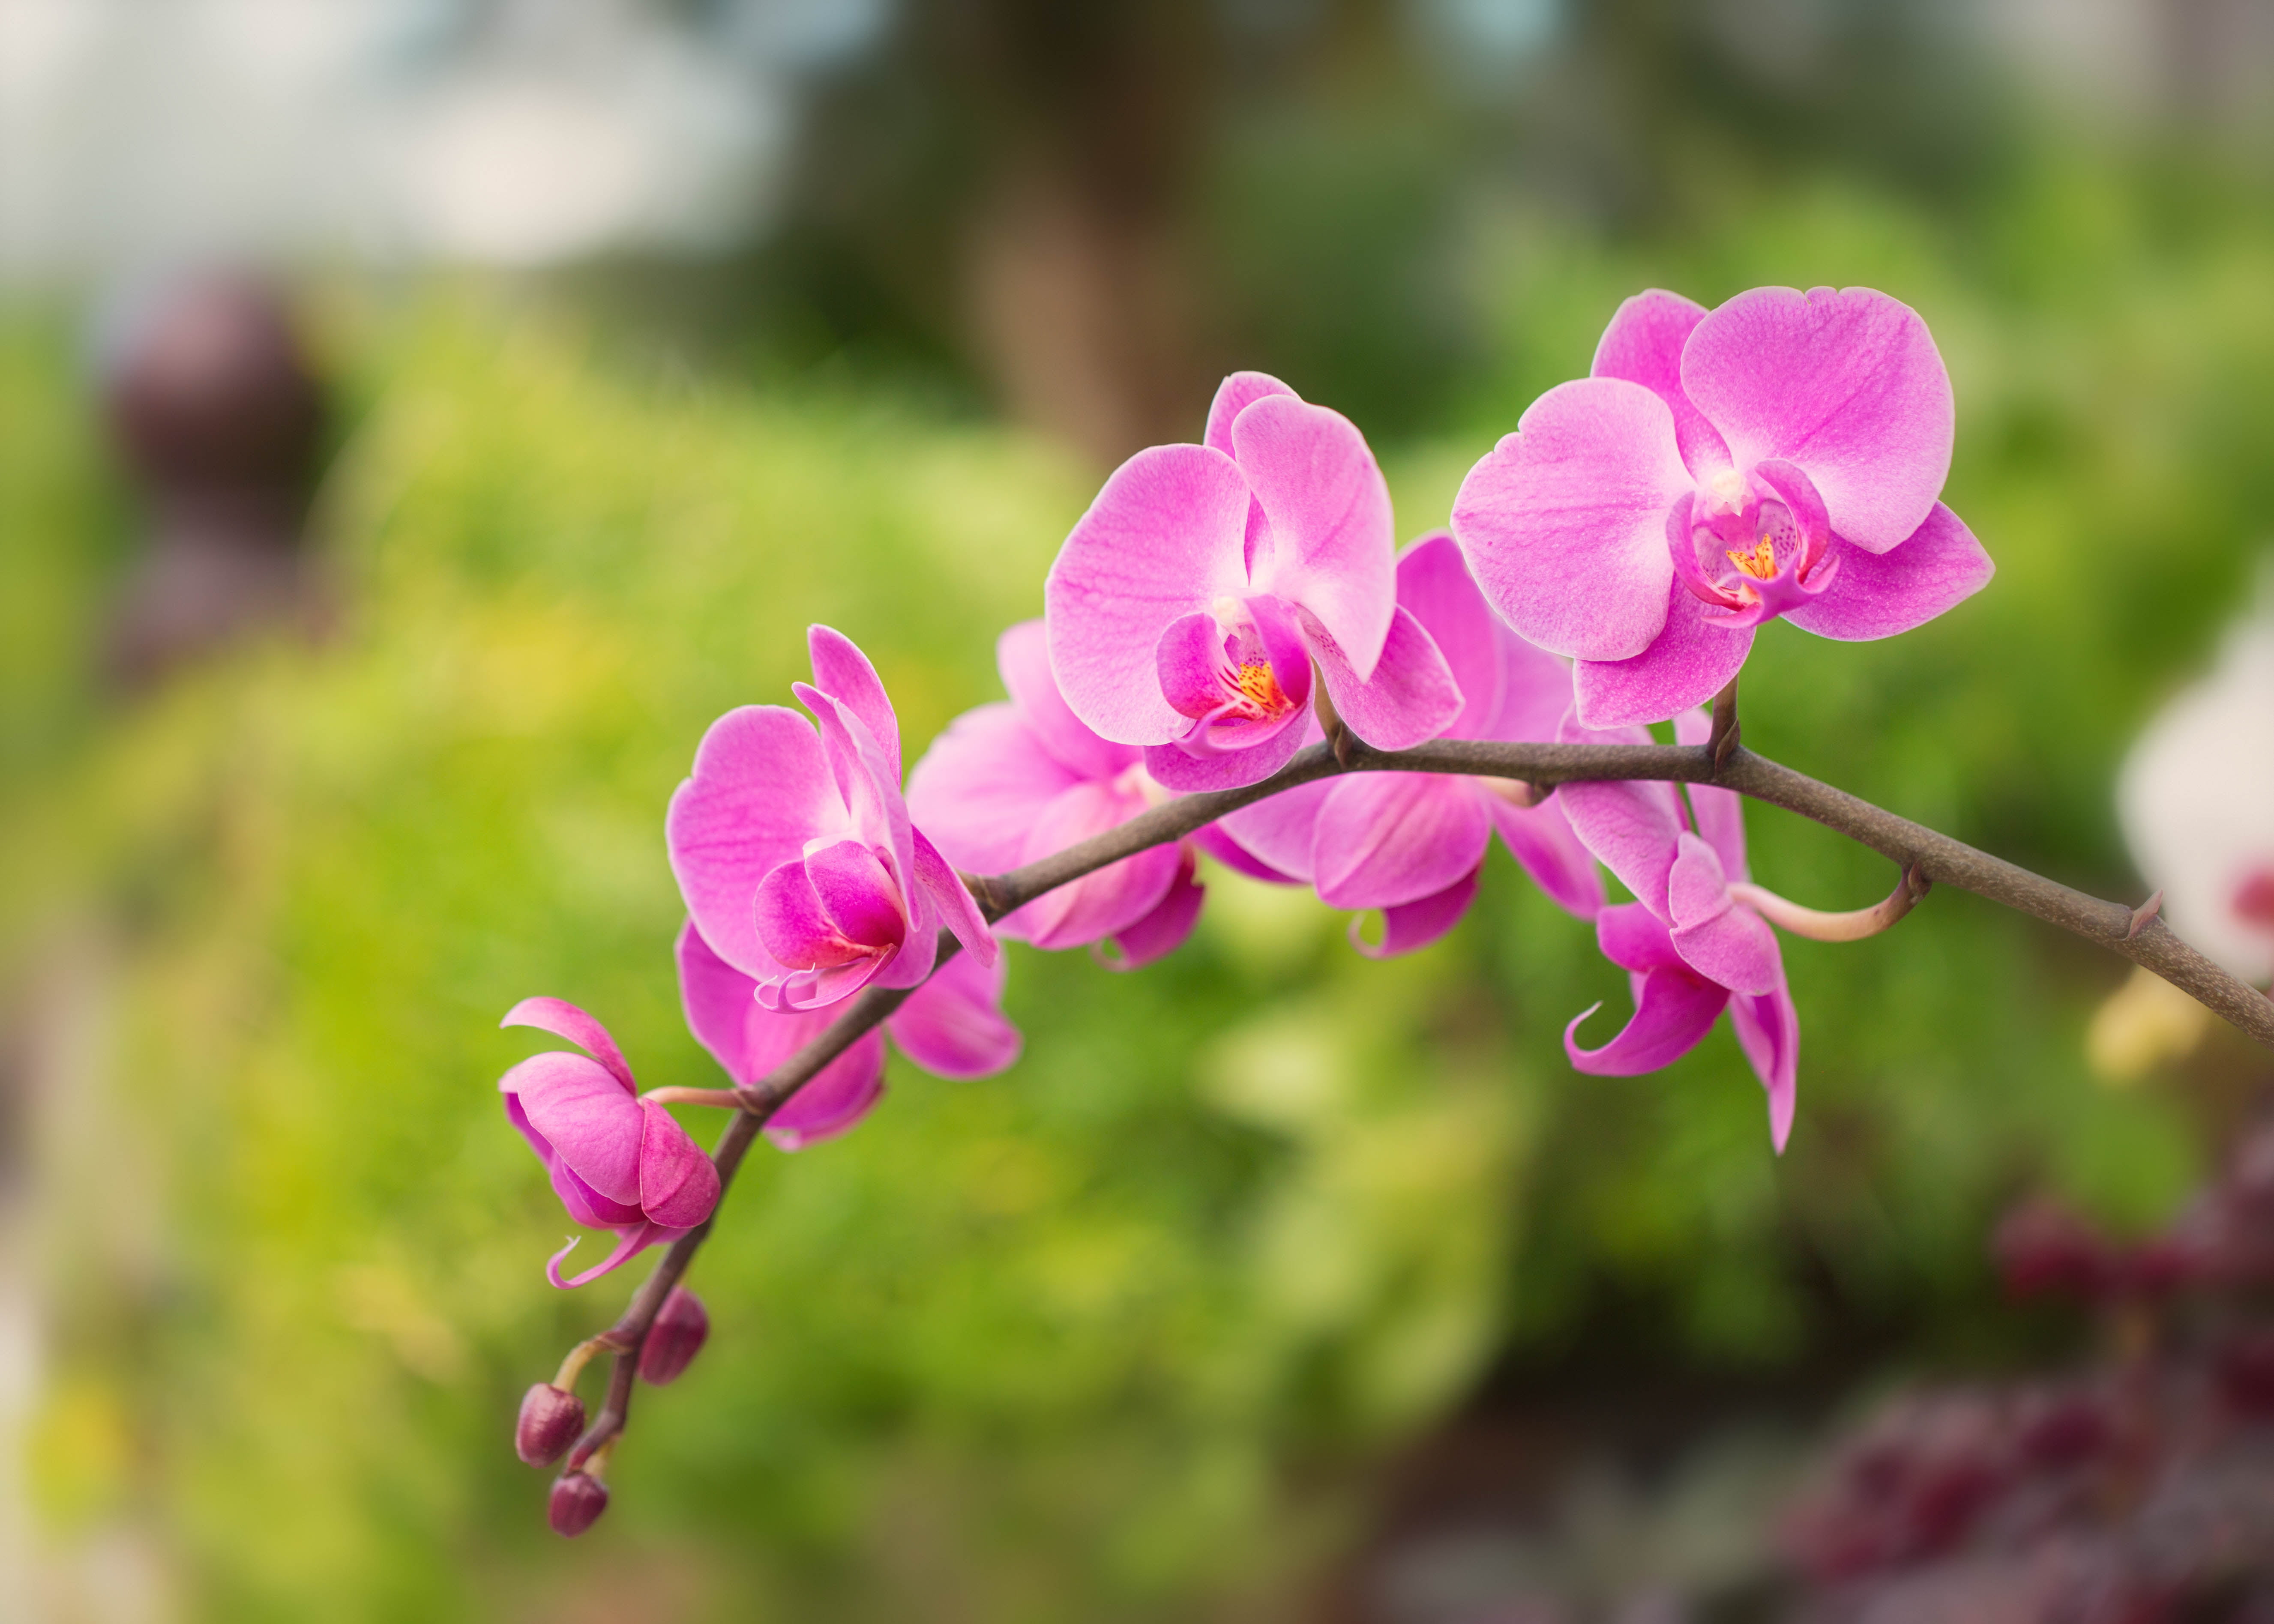
[[[1067,723],[1080,728],[1071,712]],[[1130,746],[1105,748],[1139,760]],[[951,721],[907,776],[907,817],[957,869],[1003,873],[1019,867],[1035,814],[1080,778],[1021,707],[980,705]]]

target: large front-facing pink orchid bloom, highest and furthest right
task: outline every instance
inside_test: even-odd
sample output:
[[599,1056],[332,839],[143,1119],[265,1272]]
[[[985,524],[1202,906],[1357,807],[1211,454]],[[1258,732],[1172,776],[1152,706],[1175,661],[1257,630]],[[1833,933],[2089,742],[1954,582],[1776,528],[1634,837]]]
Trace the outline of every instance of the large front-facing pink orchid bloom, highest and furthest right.
[[1492,607],[1578,660],[1585,726],[1667,721],[1765,621],[1892,637],[1990,580],[1937,500],[1953,421],[1926,323],[1885,293],[1758,287],[1706,312],[1653,289],[1469,471],[1453,535]]

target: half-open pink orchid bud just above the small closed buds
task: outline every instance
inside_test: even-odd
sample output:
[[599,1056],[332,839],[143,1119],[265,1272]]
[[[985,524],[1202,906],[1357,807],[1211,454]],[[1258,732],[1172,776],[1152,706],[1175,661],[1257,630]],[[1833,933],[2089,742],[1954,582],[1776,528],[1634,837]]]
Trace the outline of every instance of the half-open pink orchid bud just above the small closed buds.
[[498,1026],[534,1026],[584,1051],[530,1055],[498,1078],[505,1119],[546,1165],[568,1217],[616,1231],[616,1249],[573,1281],[562,1278],[562,1258],[578,1242],[553,1253],[546,1262],[553,1285],[598,1281],[709,1217],[719,1205],[719,1169],[669,1110],[639,1099],[632,1067],[605,1026],[559,999],[523,999]]

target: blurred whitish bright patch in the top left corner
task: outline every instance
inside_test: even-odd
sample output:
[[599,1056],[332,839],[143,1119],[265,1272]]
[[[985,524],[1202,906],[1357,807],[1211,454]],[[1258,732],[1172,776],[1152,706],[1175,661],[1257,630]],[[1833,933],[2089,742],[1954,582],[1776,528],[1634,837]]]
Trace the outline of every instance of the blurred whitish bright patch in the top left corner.
[[0,0],[0,282],[746,239],[889,0]]

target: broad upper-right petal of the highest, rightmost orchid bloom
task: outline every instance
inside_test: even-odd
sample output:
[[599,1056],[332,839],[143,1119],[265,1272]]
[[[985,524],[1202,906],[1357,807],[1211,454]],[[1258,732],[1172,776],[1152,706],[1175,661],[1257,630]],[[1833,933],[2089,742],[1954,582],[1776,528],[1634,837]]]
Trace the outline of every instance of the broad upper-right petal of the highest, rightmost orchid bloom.
[[1690,334],[1683,389],[1740,469],[1796,462],[1835,532],[1885,553],[1951,471],[1951,375],[1919,314],[1867,287],[1756,287]]

